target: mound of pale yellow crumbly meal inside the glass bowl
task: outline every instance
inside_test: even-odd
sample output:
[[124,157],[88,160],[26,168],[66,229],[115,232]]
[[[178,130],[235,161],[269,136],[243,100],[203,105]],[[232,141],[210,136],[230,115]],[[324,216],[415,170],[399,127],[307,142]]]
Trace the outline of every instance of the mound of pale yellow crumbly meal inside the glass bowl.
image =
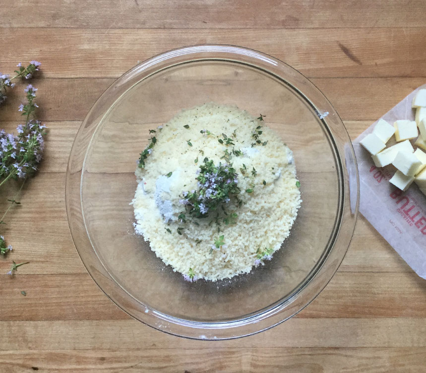
[[[262,126],[262,143],[252,146],[257,126]],[[195,275],[191,280],[232,278],[271,259],[289,236],[302,202],[292,151],[263,121],[233,106],[204,104],[182,111],[160,127],[145,168],[136,169],[138,186],[131,202],[135,230],[150,242],[151,250],[186,279],[191,268]],[[211,134],[200,133],[203,130]],[[235,145],[220,144],[222,134]],[[197,190],[197,170],[204,157],[223,164],[221,157],[232,149],[241,150],[241,155],[231,155],[230,162],[238,172],[238,197],[243,203],[239,207],[231,201],[225,208],[228,214],[238,214],[235,223],[226,225],[221,209],[219,216],[214,212],[205,219],[186,214],[186,223],[182,222],[178,217],[185,211],[180,200],[184,191]],[[249,189],[253,191],[247,193]],[[216,248],[221,235],[224,244]],[[265,249],[268,255],[259,259]]]

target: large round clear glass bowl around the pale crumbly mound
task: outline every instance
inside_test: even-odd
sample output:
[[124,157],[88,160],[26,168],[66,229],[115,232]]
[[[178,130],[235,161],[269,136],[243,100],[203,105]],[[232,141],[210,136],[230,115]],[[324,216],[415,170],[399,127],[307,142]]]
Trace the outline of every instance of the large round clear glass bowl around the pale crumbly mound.
[[[129,203],[148,129],[211,101],[266,115],[294,151],[303,203],[265,266],[232,280],[188,283],[134,234]],[[358,201],[351,141],[319,89],[273,57],[223,45],[173,50],[122,75],[81,125],[66,175],[72,238],[99,287],[143,323],[199,339],[250,335],[303,309],[343,260]]]

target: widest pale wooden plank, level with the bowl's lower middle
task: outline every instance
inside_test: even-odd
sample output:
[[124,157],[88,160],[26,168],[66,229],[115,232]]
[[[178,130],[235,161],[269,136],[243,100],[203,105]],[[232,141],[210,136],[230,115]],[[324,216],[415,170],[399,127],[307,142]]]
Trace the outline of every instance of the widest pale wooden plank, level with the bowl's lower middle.
[[[53,135],[52,135],[53,136]],[[49,147],[49,141],[48,147]],[[61,163],[65,164],[66,159]],[[58,163],[60,164],[60,163]],[[20,206],[8,213],[1,232],[15,251],[0,258],[0,273],[13,259],[30,261],[22,268],[29,274],[85,273],[67,227],[63,173],[38,173],[18,196]],[[0,211],[16,191],[13,183],[0,192]],[[22,224],[26,225],[22,229]],[[412,270],[375,229],[360,216],[352,244],[339,269],[341,272],[411,272]]]

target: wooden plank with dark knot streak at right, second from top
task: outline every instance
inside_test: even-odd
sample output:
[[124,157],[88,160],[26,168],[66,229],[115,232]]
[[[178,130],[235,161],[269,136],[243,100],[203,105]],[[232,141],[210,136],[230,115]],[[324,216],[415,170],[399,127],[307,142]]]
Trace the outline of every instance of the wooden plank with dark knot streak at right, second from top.
[[119,77],[138,61],[194,44],[242,45],[311,78],[426,76],[426,27],[278,29],[272,34],[265,29],[3,28],[1,39],[7,46],[1,71],[37,59],[44,77]]

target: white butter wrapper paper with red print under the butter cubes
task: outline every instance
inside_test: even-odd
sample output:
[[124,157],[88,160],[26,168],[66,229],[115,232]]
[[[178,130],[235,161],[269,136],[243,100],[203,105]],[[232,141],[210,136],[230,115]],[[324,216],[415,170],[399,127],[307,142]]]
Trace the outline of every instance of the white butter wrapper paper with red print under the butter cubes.
[[[399,119],[414,120],[416,112],[411,103],[422,88],[426,88],[426,84],[409,94],[382,119],[391,125]],[[360,212],[407,264],[426,279],[426,196],[416,183],[411,184],[406,192],[389,183],[395,168],[392,165],[376,167],[371,155],[360,145],[376,123],[353,142],[360,173]],[[387,147],[393,145],[394,138]],[[413,146],[415,140],[411,141]]]

